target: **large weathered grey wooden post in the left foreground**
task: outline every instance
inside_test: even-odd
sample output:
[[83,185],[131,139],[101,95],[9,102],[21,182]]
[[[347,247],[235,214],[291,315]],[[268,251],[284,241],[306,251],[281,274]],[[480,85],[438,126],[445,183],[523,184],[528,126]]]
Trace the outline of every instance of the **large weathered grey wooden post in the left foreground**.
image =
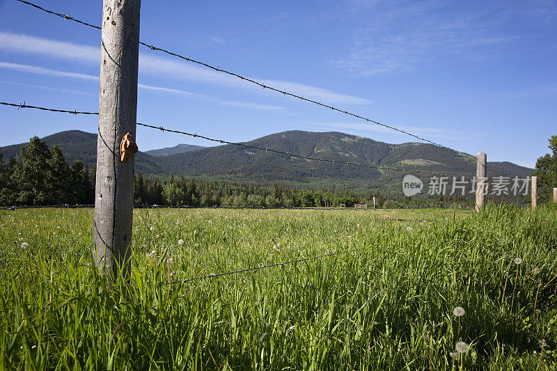
[[135,140],[140,4],[141,0],[104,0],[102,4],[93,237],[97,269],[109,276],[117,267],[125,276],[130,272],[134,157],[123,161],[120,143],[127,133],[132,145]]

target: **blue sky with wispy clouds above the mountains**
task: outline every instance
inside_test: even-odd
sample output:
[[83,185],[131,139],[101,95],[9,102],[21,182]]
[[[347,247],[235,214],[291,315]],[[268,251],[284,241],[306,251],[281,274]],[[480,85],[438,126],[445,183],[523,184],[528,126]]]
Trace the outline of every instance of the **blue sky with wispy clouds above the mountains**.
[[[100,24],[102,1],[36,3]],[[556,1],[143,1],[141,40],[400,127],[534,166],[557,117]],[[228,141],[300,129],[415,141],[140,48],[141,123]],[[0,0],[0,101],[97,111],[100,31]],[[0,146],[97,118],[0,106]],[[140,150],[203,140],[138,127]]]

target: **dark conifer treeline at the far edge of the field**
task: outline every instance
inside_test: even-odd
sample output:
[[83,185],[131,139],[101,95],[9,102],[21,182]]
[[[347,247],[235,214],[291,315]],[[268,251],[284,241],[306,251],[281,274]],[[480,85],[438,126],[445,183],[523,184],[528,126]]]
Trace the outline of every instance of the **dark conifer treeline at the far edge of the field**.
[[[184,175],[164,181],[139,173],[134,180],[137,205],[188,205],[237,207],[324,207],[356,203],[377,206],[417,205],[418,201],[395,198],[378,192],[356,194],[346,189],[299,189],[298,187],[260,187],[253,183],[196,182]],[[439,198],[437,203],[451,202]],[[421,203],[425,200],[421,200]],[[77,159],[70,166],[57,145],[49,148],[37,136],[22,145],[19,160],[4,161],[0,150],[0,205],[91,205],[95,203],[95,168]]]

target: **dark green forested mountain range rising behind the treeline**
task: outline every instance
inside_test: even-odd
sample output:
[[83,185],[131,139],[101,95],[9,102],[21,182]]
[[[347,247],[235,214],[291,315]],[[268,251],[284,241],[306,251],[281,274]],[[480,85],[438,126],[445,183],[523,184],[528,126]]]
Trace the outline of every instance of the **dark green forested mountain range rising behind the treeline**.
[[[170,135],[170,134],[169,134]],[[47,136],[42,141],[52,148],[57,144],[69,164],[81,159],[90,168],[95,165],[96,134],[71,130]],[[339,187],[354,190],[400,189],[402,175],[398,171],[347,166],[350,161],[369,166],[386,166],[420,171],[450,172],[455,175],[475,175],[476,159],[471,155],[439,148],[425,143],[399,145],[374,141],[340,132],[290,131],[263,136],[246,142],[261,148],[282,150],[306,157],[334,159],[338,163],[308,161],[279,155],[265,150],[253,150],[236,145],[219,145],[189,152],[166,155],[136,154],[136,173],[168,177],[195,176],[205,180],[254,182],[270,186],[274,182],[296,187]],[[180,148],[181,145],[177,147]],[[4,159],[18,155],[20,145],[2,148]],[[176,149],[176,148],[175,148]],[[185,149],[182,147],[182,149]],[[153,153],[152,151],[149,151]],[[489,154],[488,154],[489,158]],[[531,175],[533,169],[504,163],[489,163],[489,176]]]

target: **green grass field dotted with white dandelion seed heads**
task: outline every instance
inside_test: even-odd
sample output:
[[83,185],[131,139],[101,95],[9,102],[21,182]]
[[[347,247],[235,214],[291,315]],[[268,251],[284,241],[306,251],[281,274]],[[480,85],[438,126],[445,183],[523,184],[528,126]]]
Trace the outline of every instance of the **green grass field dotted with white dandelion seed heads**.
[[557,370],[553,205],[136,210],[111,289],[92,219],[0,212],[1,369]]

